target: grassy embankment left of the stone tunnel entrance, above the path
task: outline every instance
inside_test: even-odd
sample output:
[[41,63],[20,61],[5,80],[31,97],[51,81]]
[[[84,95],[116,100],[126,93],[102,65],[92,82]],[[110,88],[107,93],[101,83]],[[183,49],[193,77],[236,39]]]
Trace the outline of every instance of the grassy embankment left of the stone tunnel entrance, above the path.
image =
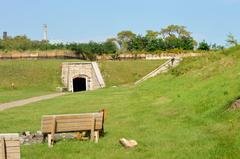
[[55,91],[61,85],[60,68],[60,60],[0,61],[0,103]]

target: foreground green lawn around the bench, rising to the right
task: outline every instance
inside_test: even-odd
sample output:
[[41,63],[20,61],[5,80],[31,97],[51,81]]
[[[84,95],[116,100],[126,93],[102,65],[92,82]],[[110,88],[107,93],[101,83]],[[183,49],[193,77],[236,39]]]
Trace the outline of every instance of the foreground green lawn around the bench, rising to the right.
[[[172,71],[136,87],[105,88],[66,95],[0,112],[0,132],[36,131],[44,114],[108,110],[98,144],[59,141],[22,146],[23,159],[238,159],[240,49],[184,59]],[[119,138],[138,141],[124,149]]]

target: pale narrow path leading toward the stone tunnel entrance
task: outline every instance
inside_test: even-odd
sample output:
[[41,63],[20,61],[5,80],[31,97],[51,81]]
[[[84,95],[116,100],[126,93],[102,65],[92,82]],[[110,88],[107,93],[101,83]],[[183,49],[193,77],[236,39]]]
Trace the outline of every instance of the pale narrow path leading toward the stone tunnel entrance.
[[38,102],[38,101],[42,101],[42,100],[52,99],[52,98],[62,96],[65,94],[67,94],[67,93],[54,93],[54,94],[48,94],[48,95],[44,95],[44,96],[32,97],[32,98],[28,98],[28,99],[16,100],[16,101],[9,102],[9,103],[3,103],[3,104],[0,104],[0,111],[6,110],[9,108],[13,108],[13,107],[24,106],[26,104],[30,104],[30,103],[34,103],[34,102]]

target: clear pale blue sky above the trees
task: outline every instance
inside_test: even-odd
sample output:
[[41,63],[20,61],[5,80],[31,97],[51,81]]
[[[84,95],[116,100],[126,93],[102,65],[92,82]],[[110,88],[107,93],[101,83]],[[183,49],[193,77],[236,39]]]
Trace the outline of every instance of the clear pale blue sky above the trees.
[[0,32],[64,42],[103,41],[119,31],[144,34],[184,25],[198,41],[240,38],[240,0],[0,0]]

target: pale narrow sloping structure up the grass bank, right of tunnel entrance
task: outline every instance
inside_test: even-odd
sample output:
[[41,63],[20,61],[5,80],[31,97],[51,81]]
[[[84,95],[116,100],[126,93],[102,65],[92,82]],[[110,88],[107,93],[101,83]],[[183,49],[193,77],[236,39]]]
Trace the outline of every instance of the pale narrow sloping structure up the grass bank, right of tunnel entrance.
[[160,73],[167,72],[170,68],[174,68],[174,67],[178,66],[181,61],[182,61],[182,59],[175,58],[174,62],[172,63],[172,60],[169,59],[164,64],[162,64],[161,66],[159,66],[158,68],[156,68],[155,70],[153,70],[152,72],[150,72],[149,74],[147,74],[146,76],[144,76],[143,78],[141,78],[140,80],[135,82],[134,84],[135,85],[140,84],[143,81],[146,81],[147,79],[149,79],[151,77],[155,77],[156,75],[158,75]]

